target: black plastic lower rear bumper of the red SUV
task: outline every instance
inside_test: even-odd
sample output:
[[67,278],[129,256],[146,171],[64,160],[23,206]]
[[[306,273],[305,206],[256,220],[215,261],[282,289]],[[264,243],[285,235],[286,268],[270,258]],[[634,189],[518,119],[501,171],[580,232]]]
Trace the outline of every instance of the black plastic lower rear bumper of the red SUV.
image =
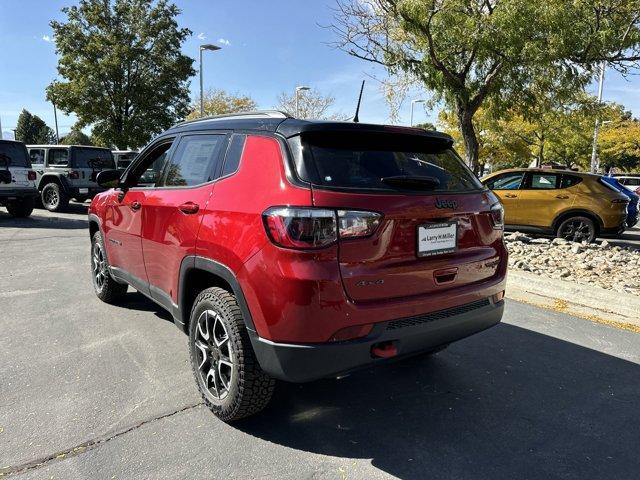
[[251,341],[265,372],[279,380],[300,383],[384,362],[371,355],[371,348],[380,342],[393,342],[398,352],[393,358],[433,350],[496,325],[503,310],[504,301],[493,303],[487,298],[429,314],[382,322],[358,340],[298,345],[275,343],[253,334]]

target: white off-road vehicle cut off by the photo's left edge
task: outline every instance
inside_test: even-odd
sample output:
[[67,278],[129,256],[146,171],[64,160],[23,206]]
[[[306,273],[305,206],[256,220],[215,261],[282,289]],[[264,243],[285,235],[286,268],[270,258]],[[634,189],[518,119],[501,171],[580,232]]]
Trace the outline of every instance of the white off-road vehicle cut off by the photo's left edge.
[[9,215],[31,215],[38,196],[35,180],[24,143],[0,140],[0,205]]

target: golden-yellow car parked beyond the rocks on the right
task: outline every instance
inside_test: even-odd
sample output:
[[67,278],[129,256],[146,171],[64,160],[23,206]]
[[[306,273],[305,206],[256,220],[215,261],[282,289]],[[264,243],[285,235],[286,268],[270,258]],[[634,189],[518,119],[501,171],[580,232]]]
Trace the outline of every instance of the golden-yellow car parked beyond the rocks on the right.
[[599,175],[566,170],[510,169],[482,179],[504,206],[505,227],[592,242],[626,227],[629,198]]

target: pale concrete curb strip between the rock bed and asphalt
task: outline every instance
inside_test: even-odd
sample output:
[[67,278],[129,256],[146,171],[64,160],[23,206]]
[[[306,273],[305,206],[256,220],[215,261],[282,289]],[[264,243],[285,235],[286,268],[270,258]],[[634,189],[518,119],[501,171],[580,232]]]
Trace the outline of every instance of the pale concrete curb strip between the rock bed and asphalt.
[[507,298],[640,333],[640,297],[510,270]]

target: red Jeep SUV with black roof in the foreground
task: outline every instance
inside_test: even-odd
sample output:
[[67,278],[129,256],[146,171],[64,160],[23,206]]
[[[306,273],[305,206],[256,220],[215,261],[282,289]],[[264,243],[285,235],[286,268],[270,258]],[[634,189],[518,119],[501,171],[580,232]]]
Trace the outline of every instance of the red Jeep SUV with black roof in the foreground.
[[127,285],[189,335],[225,421],[305,382],[498,323],[503,211],[420,129],[258,112],[181,123],[91,203],[98,297]]

